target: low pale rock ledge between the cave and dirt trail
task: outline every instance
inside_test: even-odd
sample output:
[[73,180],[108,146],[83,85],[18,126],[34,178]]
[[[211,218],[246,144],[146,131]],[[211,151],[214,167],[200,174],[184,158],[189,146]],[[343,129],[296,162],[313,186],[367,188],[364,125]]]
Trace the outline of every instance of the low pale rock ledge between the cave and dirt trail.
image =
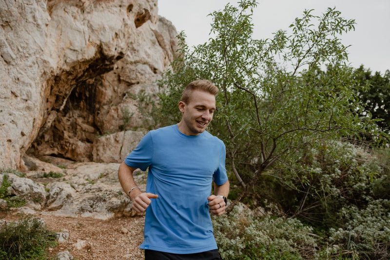
[[[50,156],[45,157],[50,160]],[[55,157],[52,157],[56,159]],[[119,185],[117,170],[119,163],[94,163],[61,159],[61,168],[51,167],[47,174],[44,163],[29,158],[37,165],[37,170],[26,171],[25,177],[13,173],[8,176],[9,196],[18,196],[26,204],[18,210],[24,214],[54,214],[63,217],[92,217],[110,219],[115,216],[133,216],[132,202]],[[57,158],[58,160],[58,158]],[[59,164],[59,161],[52,162]],[[43,171],[43,172],[42,172]],[[45,174],[46,173],[46,174]],[[4,174],[0,173],[0,186]],[[145,190],[147,174],[137,171],[135,180]],[[6,208],[7,202],[0,201],[0,208]]]

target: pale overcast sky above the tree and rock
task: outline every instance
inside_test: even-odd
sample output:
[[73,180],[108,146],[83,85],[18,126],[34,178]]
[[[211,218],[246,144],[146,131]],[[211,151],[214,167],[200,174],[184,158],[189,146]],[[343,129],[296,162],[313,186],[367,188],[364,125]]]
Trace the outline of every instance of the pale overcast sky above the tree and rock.
[[[213,11],[226,3],[237,6],[238,0],[158,0],[158,14],[172,21],[177,31],[184,31],[189,46],[207,41]],[[321,15],[328,7],[336,7],[345,19],[355,19],[355,31],[341,37],[349,47],[349,61],[361,64],[383,75],[390,70],[390,0],[259,0],[254,10],[254,38],[272,37],[279,29],[287,30],[305,9]]]

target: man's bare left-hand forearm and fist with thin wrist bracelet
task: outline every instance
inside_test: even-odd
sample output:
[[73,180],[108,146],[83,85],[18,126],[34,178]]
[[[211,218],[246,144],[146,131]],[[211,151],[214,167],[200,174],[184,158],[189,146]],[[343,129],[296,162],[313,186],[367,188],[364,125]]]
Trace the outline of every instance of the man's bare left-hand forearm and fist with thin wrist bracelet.
[[158,195],[141,192],[133,177],[133,172],[136,169],[137,168],[129,167],[125,164],[125,162],[122,162],[118,169],[118,179],[122,189],[133,201],[133,209],[138,213],[142,213],[146,210],[149,204],[151,204],[152,201],[150,199],[156,199]]

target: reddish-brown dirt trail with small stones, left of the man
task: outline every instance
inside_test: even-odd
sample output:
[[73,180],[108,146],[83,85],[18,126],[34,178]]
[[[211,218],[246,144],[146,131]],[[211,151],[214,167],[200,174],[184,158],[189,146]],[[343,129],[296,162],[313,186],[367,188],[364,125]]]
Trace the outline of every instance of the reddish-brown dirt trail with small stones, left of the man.
[[[138,248],[143,240],[143,216],[120,217],[110,220],[60,217],[45,212],[34,217],[43,218],[47,227],[55,232],[69,232],[66,241],[49,248],[51,256],[69,250],[75,260],[142,260]],[[20,218],[17,214],[2,213],[8,221]],[[128,232],[125,233],[127,229]]]

